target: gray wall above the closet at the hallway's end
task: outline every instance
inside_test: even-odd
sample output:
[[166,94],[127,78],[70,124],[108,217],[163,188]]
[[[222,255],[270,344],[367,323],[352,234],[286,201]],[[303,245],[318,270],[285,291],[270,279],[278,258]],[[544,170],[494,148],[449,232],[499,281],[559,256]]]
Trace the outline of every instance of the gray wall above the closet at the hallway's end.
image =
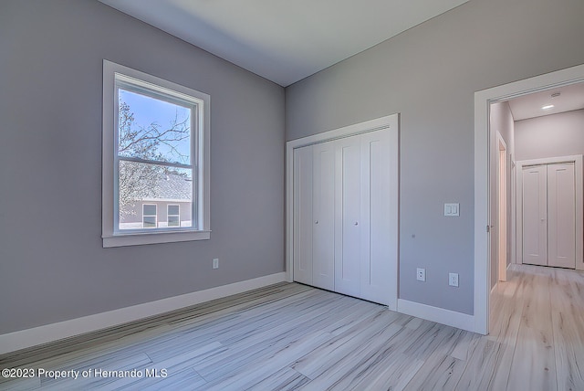
[[515,122],[516,160],[584,153],[584,110]]

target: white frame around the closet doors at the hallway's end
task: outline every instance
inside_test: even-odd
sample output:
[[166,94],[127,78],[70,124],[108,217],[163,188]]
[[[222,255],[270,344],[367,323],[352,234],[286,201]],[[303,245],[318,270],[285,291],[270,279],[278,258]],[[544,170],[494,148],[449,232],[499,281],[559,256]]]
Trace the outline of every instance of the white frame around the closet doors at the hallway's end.
[[584,217],[583,216],[583,188],[584,178],[582,176],[582,162],[583,156],[581,154],[574,154],[568,156],[547,157],[543,159],[521,160],[516,162],[516,261],[518,264],[523,263],[523,167],[529,165],[544,165],[544,164],[558,164],[558,163],[573,163],[574,175],[576,185],[576,269],[584,270],[584,253],[582,248],[582,240],[584,236]]

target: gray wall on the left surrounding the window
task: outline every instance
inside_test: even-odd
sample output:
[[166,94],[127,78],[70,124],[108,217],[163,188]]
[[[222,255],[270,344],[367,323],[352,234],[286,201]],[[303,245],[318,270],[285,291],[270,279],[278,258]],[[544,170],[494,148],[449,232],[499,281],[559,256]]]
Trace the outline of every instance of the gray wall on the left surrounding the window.
[[[211,240],[101,247],[103,58],[211,95]],[[284,98],[97,1],[0,2],[0,333],[283,271]]]

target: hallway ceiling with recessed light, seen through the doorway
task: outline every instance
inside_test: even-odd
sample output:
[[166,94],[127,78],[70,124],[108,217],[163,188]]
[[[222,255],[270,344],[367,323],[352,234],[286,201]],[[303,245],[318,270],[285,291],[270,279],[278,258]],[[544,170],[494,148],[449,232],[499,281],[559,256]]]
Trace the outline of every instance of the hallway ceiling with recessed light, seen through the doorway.
[[[560,93],[558,97],[551,96],[558,92]],[[551,104],[554,105],[552,109],[542,109]],[[584,109],[584,83],[570,84],[515,98],[509,100],[509,107],[515,121]]]

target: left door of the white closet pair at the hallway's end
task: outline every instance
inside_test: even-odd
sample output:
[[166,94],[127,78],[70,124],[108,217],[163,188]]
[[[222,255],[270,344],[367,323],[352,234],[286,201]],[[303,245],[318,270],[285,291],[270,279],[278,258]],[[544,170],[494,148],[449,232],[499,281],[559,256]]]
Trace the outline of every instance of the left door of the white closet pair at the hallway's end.
[[523,168],[523,263],[547,265],[547,167]]

